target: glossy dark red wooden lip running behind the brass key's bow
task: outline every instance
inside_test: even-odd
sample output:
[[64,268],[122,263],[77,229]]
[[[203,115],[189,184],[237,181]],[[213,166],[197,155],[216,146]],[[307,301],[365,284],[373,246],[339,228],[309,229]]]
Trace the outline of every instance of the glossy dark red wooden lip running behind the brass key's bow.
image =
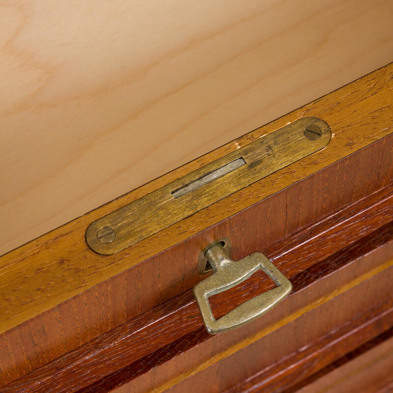
[[[389,220],[392,217],[393,185],[390,185],[317,225],[272,246],[266,254],[275,261],[286,276],[295,276],[293,282],[296,283],[294,285],[294,293],[296,293],[313,281],[331,274],[335,269],[391,242],[393,224]],[[385,226],[380,228],[381,225]],[[370,240],[365,238],[366,235]],[[339,255],[338,251],[340,251]],[[337,254],[329,258],[334,253]],[[310,254],[313,255],[312,259],[305,258]],[[324,260],[321,269],[316,271],[310,269],[311,266],[317,267],[316,262],[321,260]],[[384,265],[385,268],[392,262],[388,261],[388,264]],[[301,275],[303,279],[296,275]],[[253,276],[240,287],[213,298],[211,303],[215,314],[224,314],[238,304],[269,289],[271,285],[272,283],[266,278]],[[254,290],[251,290],[252,288]],[[181,329],[178,328],[180,324]],[[58,384],[58,392],[72,392],[135,362],[201,326],[195,300],[191,291],[187,291],[31,372],[6,386],[1,392],[19,392],[28,386],[33,392],[46,392],[54,383]],[[204,335],[203,340],[208,338],[211,337]],[[116,361],[113,362],[113,359]]]

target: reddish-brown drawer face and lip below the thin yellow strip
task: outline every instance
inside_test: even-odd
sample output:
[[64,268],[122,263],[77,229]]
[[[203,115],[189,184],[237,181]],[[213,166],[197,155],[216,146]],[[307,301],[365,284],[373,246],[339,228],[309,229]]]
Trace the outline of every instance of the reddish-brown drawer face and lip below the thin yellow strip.
[[[193,367],[178,379],[165,382],[156,392],[166,391],[170,384],[180,382],[189,373],[195,373],[197,369],[204,367],[206,368],[202,372],[178,383],[169,392],[197,393],[202,385],[204,391],[209,393],[249,392],[248,389],[254,385],[257,385],[256,392],[266,393],[289,388],[294,382],[329,365],[331,361],[393,325],[392,279],[393,268],[390,268],[252,345],[240,349],[242,345],[262,336],[261,331],[255,334],[256,337],[248,337],[235,344],[235,347],[226,348],[207,359],[205,364]],[[309,291],[305,290],[302,295],[310,296]],[[214,348],[215,345],[211,343],[210,346]],[[198,355],[201,350],[209,353],[209,349],[209,345],[198,348]],[[237,349],[239,350],[231,356],[214,363]],[[182,357],[186,356],[181,355],[179,362],[182,362]],[[248,381],[253,376],[256,381]],[[133,392],[135,382],[129,385],[129,390],[122,387],[114,392]],[[232,388],[239,383],[240,386]],[[142,389],[141,392],[143,391],[150,390]]]

